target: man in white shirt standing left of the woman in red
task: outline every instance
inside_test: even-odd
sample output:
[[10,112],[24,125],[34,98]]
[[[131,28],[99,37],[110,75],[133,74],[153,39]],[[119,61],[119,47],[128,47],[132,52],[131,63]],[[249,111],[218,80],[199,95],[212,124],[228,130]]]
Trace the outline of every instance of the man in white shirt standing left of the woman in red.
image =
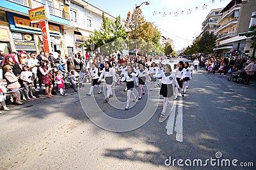
[[[37,85],[36,85],[36,78],[37,78],[37,67],[39,66],[38,64],[38,59],[36,59],[36,55],[35,53],[31,53],[30,54],[30,59],[28,60],[28,67],[29,69],[31,69],[31,72],[33,73],[33,83],[34,83],[34,87],[36,92],[39,92],[39,90],[37,89]],[[42,83],[39,83],[40,88],[42,88]]]

